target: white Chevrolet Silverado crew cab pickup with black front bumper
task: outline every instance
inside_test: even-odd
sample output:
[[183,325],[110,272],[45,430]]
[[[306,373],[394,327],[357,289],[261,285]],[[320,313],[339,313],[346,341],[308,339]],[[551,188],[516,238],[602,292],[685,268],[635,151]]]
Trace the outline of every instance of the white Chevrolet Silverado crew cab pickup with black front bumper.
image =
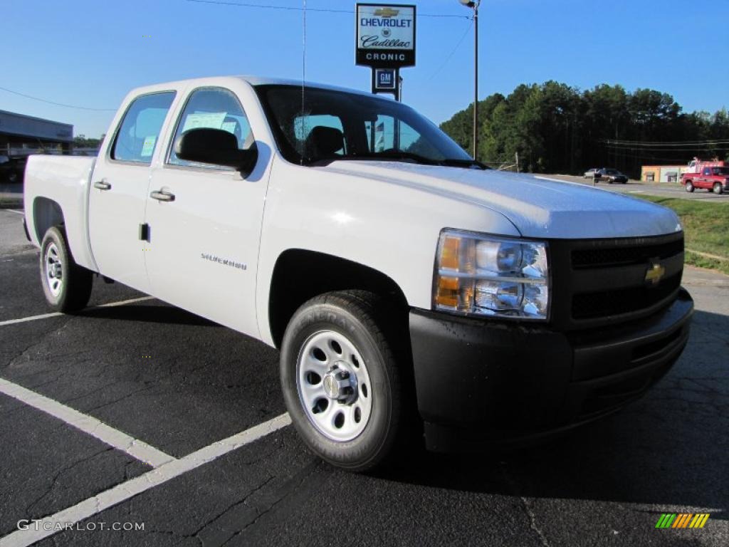
[[52,309],[98,275],[275,346],[301,438],[349,470],[590,422],[689,335],[673,212],[488,170],[367,93],[136,89],[98,158],[32,156],[25,200]]

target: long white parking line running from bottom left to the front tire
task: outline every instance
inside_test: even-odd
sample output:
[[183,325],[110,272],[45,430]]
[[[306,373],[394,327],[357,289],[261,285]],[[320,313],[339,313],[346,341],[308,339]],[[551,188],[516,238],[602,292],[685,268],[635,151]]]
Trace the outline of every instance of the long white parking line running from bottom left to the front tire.
[[179,477],[183,473],[199,468],[208,462],[212,462],[230,451],[241,448],[246,444],[257,441],[260,438],[270,435],[273,432],[286,427],[291,423],[288,414],[281,414],[276,418],[268,420],[260,425],[252,427],[249,430],[240,432],[232,437],[228,437],[217,443],[206,446],[203,449],[192,452],[181,459],[175,459],[172,462],[165,463],[160,468],[153,469],[144,473],[139,477],[133,478],[122,484],[117,484],[101,494],[90,497],[88,500],[77,503],[73,507],[59,511],[54,515],[46,516],[38,523],[39,525],[31,526],[27,530],[17,530],[0,538],[0,547],[26,547],[36,541],[54,535],[63,531],[64,527],[69,524],[76,523],[90,516],[101,513],[106,509],[129,500],[131,497],[146,492],[147,490],[159,486],[172,478]]

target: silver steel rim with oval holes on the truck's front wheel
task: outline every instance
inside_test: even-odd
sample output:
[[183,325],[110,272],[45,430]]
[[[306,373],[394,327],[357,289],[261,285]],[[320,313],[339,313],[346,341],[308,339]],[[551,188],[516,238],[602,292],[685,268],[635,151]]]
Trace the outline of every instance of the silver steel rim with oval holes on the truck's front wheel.
[[370,421],[367,365],[340,333],[320,330],[307,338],[296,362],[296,388],[311,424],[332,441],[351,441]]

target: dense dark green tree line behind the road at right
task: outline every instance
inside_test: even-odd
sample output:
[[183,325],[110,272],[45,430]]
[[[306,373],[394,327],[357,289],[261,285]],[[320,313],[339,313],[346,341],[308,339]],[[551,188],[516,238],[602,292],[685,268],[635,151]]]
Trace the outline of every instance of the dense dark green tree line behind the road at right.
[[[729,115],[683,112],[668,93],[620,85],[580,91],[559,82],[519,85],[509,96],[478,101],[477,159],[523,171],[579,174],[615,167],[639,176],[642,165],[729,159]],[[472,152],[473,104],[440,128]],[[707,142],[707,141],[725,141]]]

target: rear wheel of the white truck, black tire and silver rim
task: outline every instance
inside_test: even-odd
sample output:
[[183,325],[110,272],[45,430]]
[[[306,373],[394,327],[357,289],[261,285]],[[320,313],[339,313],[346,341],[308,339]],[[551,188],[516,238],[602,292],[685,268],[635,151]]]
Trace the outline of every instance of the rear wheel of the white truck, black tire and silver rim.
[[[60,268],[54,269],[49,257],[56,257]],[[51,271],[53,275],[49,274]],[[55,273],[61,277],[55,276]],[[91,297],[93,273],[74,261],[66,241],[66,232],[60,226],[48,228],[43,236],[40,274],[46,301],[54,311],[73,313],[86,307]]]

